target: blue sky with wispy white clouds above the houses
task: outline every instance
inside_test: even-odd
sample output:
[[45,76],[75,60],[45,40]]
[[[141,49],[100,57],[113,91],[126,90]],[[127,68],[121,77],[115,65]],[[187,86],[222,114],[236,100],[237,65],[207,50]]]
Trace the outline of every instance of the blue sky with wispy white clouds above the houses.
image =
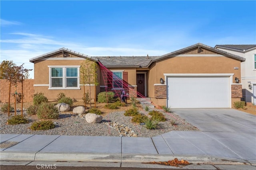
[[[156,56],[203,43],[256,44],[256,1],[0,1],[1,61],[66,47]],[[33,78],[33,71],[30,72]]]

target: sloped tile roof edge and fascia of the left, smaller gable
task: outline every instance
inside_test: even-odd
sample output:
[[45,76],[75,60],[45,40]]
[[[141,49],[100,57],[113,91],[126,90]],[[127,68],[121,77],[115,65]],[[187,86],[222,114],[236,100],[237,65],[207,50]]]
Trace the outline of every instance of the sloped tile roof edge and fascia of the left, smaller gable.
[[30,62],[34,63],[34,61],[38,60],[38,59],[42,59],[42,58],[45,58],[45,57],[49,57],[50,55],[54,55],[56,53],[59,53],[59,52],[68,52],[68,53],[72,53],[72,54],[75,54],[75,55],[78,55],[80,57],[83,57],[83,58],[88,58],[88,59],[91,59],[91,60],[95,60],[94,57],[91,57],[91,56],[88,56],[88,55],[85,55],[83,53],[79,53],[77,51],[72,51],[70,49],[67,49],[67,48],[61,48],[61,49],[58,49],[58,50],[54,50],[54,51],[51,51],[49,53],[45,53],[45,54],[42,54],[42,55],[39,55],[37,57],[34,57],[34,58],[31,58],[29,59]]

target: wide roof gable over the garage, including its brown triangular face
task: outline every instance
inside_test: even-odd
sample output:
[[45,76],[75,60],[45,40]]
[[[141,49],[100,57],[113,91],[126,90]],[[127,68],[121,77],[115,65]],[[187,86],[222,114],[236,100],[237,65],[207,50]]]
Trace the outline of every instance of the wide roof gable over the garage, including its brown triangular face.
[[158,60],[162,60],[162,59],[165,59],[165,58],[168,58],[168,57],[175,57],[176,55],[180,55],[180,54],[191,54],[191,55],[193,55],[193,54],[194,55],[196,55],[196,54],[200,54],[200,55],[202,55],[202,54],[220,54],[220,55],[224,55],[226,57],[231,57],[231,58],[234,58],[234,59],[238,59],[240,61],[245,61],[245,59],[243,57],[240,57],[238,55],[227,53],[226,51],[215,49],[213,47],[210,47],[208,45],[204,45],[202,43],[197,43],[197,44],[191,45],[189,47],[185,47],[183,49],[179,49],[177,51],[174,51],[174,52],[167,53],[165,55],[156,57],[153,60],[153,62],[158,61]]

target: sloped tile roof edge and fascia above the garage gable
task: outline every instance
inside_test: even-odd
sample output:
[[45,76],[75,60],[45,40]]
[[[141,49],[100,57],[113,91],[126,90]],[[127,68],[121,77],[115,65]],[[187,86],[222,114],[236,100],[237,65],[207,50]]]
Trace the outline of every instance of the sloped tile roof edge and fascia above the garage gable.
[[197,43],[197,44],[191,45],[191,46],[189,46],[189,47],[186,47],[186,48],[183,48],[183,49],[179,49],[179,50],[177,50],[177,51],[174,51],[174,52],[171,52],[171,53],[168,53],[168,54],[165,54],[165,55],[156,57],[156,58],[153,60],[153,62],[154,62],[154,61],[161,60],[161,59],[164,59],[164,58],[166,58],[166,57],[174,57],[174,55],[177,55],[177,54],[182,53],[182,52],[184,52],[184,51],[187,51],[187,50],[189,50],[189,49],[193,49],[193,48],[195,48],[195,47],[204,47],[204,48],[206,48],[206,49],[209,49],[209,50],[211,50],[211,51],[215,51],[216,53],[220,53],[220,54],[225,55],[225,56],[227,56],[227,57],[232,57],[232,58],[238,59],[238,60],[240,60],[240,61],[245,61],[245,58],[240,57],[240,56],[238,56],[238,55],[234,55],[234,54],[228,53],[228,52],[226,52],[226,51],[222,51],[222,50],[220,50],[220,49],[215,49],[215,48],[213,48],[213,47],[210,47],[210,46],[208,46],[208,45],[204,45],[204,44],[202,44],[202,43]]

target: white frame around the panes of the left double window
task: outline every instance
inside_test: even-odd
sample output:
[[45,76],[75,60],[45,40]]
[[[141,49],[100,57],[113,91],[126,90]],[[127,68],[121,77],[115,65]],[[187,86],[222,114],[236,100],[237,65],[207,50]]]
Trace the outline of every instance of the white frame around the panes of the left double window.
[[[80,90],[80,67],[81,66],[48,66],[49,68],[49,88],[48,90]],[[52,68],[62,68],[62,87],[52,87]],[[67,87],[66,68],[77,68],[77,87]]]

